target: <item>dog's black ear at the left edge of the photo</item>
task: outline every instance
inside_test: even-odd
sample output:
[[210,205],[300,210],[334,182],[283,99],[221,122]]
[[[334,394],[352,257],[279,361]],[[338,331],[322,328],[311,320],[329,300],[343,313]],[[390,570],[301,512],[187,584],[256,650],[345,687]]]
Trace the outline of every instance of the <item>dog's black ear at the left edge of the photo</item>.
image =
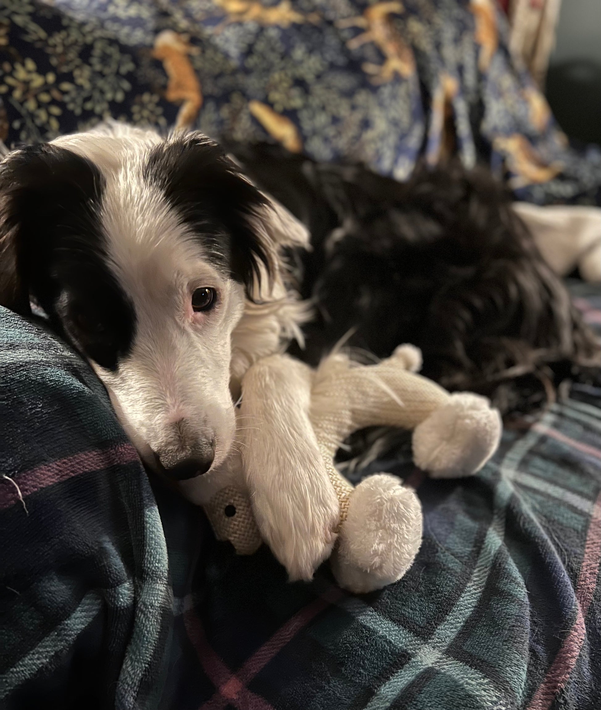
[[26,315],[30,279],[44,265],[56,226],[76,207],[93,209],[102,178],[89,160],[50,143],[0,163],[0,305]]

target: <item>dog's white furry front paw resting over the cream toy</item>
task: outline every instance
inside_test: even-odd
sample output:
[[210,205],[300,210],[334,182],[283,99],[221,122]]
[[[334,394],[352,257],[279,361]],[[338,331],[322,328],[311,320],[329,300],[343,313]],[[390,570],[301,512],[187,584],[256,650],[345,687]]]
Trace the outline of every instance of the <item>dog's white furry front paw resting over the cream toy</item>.
[[277,471],[253,477],[255,520],[290,581],[310,580],[334,547],[340,503],[318,451],[273,458]]

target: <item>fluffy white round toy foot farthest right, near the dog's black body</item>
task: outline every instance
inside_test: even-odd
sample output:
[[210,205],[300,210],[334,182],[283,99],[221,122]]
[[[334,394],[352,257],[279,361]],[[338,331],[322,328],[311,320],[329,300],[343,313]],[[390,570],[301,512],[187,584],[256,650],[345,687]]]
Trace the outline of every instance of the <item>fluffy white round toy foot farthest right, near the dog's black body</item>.
[[502,426],[489,400],[455,393],[414,430],[413,460],[436,479],[472,476],[497,450]]

